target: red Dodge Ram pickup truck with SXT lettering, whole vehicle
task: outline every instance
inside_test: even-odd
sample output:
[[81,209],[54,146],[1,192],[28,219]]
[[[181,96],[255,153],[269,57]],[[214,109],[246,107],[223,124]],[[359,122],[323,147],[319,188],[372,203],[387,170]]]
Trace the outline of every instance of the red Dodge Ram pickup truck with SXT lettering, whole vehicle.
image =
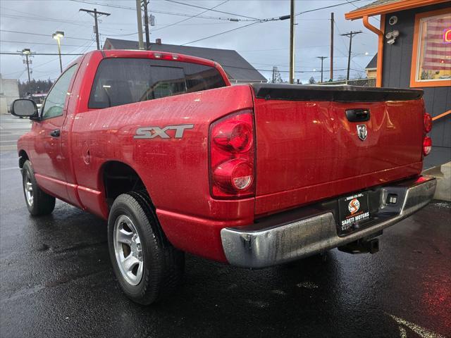
[[338,247],[378,250],[385,227],[431,201],[421,90],[242,84],[213,61],[92,51],[42,109],[16,100],[32,215],[55,199],[108,220],[125,294],[152,303],[184,252],[264,268]]

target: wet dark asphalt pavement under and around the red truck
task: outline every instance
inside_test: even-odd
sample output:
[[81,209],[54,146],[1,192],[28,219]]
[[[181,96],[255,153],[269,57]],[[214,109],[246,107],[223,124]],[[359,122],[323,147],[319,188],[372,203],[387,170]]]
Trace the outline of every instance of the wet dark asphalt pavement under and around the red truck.
[[451,204],[385,230],[373,255],[264,270],[187,256],[178,292],[144,307],[113,276],[106,222],[62,202],[31,218],[16,153],[0,156],[1,337],[451,336]]

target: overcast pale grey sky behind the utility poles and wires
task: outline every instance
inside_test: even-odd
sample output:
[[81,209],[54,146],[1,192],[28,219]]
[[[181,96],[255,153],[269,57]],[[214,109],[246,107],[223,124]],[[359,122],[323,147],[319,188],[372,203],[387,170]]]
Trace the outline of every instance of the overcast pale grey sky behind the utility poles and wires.
[[[246,21],[252,20],[246,17],[263,19],[290,14],[290,1],[288,0],[177,1],[204,8],[217,6],[214,8],[215,11],[228,13],[206,11],[202,8],[175,4],[166,0],[151,0],[150,12],[156,18],[156,25],[151,27],[152,42],[156,38],[161,38],[162,42],[166,44],[186,44],[254,22]],[[348,1],[353,0],[297,0],[295,13],[343,4]],[[351,75],[354,77],[359,73],[358,70],[364,70],[366,64],[376,53],[377,37],[363,27],[362,20],[345,20],[345,13],[352,11],[356,6],[361,7],[372,1],[360,0],[353,4],[344,4],[296,16],[295,68],[297,71],[312,72],[296,73],[296,78],[306,82],[309,77],[314,76],[317,81],[319,80],[321,74],[313,73],[313,70],[321,69],[321,61],[316,56],[329,56],[330,54],[330,12],[332,11],[335,13],[336,23],[334,68],[344,69],[347,67],[349,38],[340,37],[340,33],[362,30],[363,33],[355,36],[352,40]],[[0,0],[0,50],[16,52],[30,48],[37,54],[57,53],[56,41],[51,38],[51,34],[56,30],[62,30],[66,35],[61,40],[62,53],[75,54],[93,50],[96,48],[92,28],[94,19],[88,13],[80,12],[79,9],[93,9],[94,7],[98,11],[111,13],[108,17],[102,17],[99,24],[102,45],[107,37],[137,40],[136,12],[130,9],[135,8],[135,0]],[[183,15],[199,15],[210,18],[197,17],[185,20],[188,16]],[[218,18],[235,18],[241,21],[231,22]],[[178,23],[181,20],[185,21]],[[371,18],[370,21],[378,27],[378,18]],[[173,23],[178,24],[165,27]],[[15,32],[5,32],[6,30]],[[288,70],[289,42],[290,20],[277,20],[257,23],[189,45],[235,49],[255,68],[261,70],[266,78],[269,78],[271,72],[265,70],[272,70],[273,65],[278,66],[280,70]],[[366,53],[368,55],[365,55]],[[63,67],[76,57],[63,56]],[[329,59],[324,61],[324,70],[327,70],[324,77],[328,78]],[[1,55],[0,73],[4,78],[20,80],[27,78],[25,65],[19,55]],[[336,70],[334,77],[345,75],[345,73],[345,70]],[[364,73],[360,73],[364,75]],[[33,78],[54,79],[58,77],[58,74],[58,56],[36,55],[32,58]],[[285,80],[288,78],[286,72],[282,72],[281,75]]]

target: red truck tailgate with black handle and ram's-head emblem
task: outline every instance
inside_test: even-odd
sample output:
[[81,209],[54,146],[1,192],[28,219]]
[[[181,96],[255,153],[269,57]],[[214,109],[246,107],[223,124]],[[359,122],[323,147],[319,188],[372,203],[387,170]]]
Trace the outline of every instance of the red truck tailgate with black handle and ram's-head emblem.
[[[257,215],[421,173],[422,91],[280,84],[252,87]],[[369,111],[369,119],[359,122],[364,118],[361,115],[347,116],[346,111],[352,109]]]

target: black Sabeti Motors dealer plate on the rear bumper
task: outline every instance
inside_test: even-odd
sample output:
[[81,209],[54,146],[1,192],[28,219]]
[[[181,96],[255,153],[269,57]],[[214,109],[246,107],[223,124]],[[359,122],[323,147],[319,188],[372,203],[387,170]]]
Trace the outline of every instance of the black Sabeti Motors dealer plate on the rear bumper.
[[360,227],[361,223],[369,220],[369,194],[357,192],[338,199],[338,234],[349,234]]

